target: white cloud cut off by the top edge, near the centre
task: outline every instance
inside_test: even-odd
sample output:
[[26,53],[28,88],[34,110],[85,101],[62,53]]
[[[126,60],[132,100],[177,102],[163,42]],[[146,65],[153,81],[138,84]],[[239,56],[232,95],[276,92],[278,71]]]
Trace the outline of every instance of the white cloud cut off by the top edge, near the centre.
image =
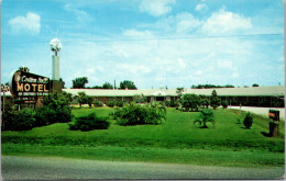
[[176,0],[143,0],[140,4],[142,12],[147,12],[154,16],[161,16],[172,11],[170,4]]

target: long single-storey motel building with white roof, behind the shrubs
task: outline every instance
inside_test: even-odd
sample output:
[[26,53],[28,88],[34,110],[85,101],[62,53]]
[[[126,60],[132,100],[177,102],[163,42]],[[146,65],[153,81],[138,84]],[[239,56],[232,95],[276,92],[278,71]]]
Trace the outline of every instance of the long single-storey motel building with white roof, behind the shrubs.
[[[42,89],[42,88],[41,88]],[[44,89],[44,88],[43,88]],[[184,89],[182,94],[195,93],[206,95],[210,99],[212,90],[217,91],[221,101],[227,100],[230,105],[242,106],[265,106],[284,108],[285,87],[250,87],[250,88],[216,88],[216,89]],[[176,101],[178,93],[176,89],[63,89],[63,91],[77,95],[85,92],[95,101],[102,101],[105,104],[109,100],[131,102],[136,94],[143,94],[147,102],[152,101]],[[13,103],[10,91],[1,91],[1,101]]]

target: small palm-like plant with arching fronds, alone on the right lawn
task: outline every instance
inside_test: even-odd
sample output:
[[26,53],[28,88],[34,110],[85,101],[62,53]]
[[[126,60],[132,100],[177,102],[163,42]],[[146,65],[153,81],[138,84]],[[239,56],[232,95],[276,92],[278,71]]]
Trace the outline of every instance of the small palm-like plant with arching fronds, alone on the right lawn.
[[195,120],[194,124],[201,128],[207,128],[208,122],[215,127],[213,112],[210,109],[205,109],[200,111],[199,116]]

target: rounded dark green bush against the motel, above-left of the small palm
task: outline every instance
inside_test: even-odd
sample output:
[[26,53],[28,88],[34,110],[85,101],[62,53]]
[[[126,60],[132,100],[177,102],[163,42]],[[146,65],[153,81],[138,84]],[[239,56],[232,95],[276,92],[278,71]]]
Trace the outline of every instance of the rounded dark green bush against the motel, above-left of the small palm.
[[187,111],[191,109],[191,111],[198,111],[198,106],[200,105],[200,98],[197,94],[184,94],[182,98],[182,106]]

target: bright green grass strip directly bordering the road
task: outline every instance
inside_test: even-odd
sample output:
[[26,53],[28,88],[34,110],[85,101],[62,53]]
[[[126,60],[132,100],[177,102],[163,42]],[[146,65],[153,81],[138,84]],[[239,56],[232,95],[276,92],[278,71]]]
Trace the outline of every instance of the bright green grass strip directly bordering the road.
[[109,161],[145,161],[226,167],[284,167],[284,152],[167,149],[118,146],[2,145],[4,156],[65,157]]

